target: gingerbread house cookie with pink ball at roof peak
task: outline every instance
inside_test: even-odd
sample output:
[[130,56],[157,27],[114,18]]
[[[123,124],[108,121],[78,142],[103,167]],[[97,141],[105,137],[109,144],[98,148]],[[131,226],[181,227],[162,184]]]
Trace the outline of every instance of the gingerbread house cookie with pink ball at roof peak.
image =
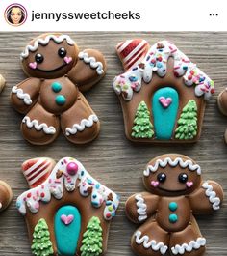
[[26,219],[33,254],[103,255],[118,196],[74,158],[57,164],[30,159],[22,171],[33,188],[17,198],[16,207]]

